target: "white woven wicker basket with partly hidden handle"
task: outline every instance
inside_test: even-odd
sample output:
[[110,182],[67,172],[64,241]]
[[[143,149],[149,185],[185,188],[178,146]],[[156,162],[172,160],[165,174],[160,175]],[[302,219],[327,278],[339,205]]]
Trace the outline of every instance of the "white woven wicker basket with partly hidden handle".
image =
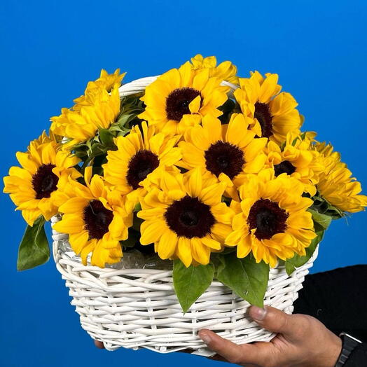
[[[141,78],[120,87],[120,96],[142,92],[156,76]],[[235,85],[223,82],[235,90]],[[53,217],[55,223],[59,219]],[[193,354],[212,355],[198,338],[201,328],[209,328],[237,344],[269,341],[274,334],[247,317],[249,303],[220,282],[209,289],[183,314],[174,293],[172,271],[153,269],[97,268],[84,266],[60,249],[67,235],[53,230],[53,256],[57,270],[66,280],[71,304],[81,317],[81,326],[104,347],[146,348],[169,353],[191,349]],[[265,305],[293,312],[303,280],[317,257],[318,248],[305,265],[291,277],[284,266],[270,270]]]

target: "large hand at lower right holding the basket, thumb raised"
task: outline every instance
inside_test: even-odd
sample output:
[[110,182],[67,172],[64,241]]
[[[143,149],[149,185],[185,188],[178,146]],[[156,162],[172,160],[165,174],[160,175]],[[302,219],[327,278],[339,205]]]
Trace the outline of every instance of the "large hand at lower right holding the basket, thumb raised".
[[286,314],[273,307],[251,306],[249,315],[257,324],[277,333],[270,342],[236,345],[213,331],[202,329],[200,338],[218,353],[213,359],[245,367],[333,367],[342,340],[324,324],[305,314]]

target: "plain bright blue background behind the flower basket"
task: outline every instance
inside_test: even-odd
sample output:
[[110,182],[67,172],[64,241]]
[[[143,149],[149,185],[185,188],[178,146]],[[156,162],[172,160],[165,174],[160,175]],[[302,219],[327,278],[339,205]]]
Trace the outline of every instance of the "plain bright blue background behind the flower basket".
[[[366,19],[365,1],[1,1],[0,176],[102,67],[131,81],[202,53],[232,60],[242,76],[278,73],[305,128],[332,141],[367,188]],[[220,363],[96,349],[53,261],[15,270],[25,223],[7,195],[0,201],[1,366]],[[364,213],[334,222],[312,272],[366,263],[366,228]]]

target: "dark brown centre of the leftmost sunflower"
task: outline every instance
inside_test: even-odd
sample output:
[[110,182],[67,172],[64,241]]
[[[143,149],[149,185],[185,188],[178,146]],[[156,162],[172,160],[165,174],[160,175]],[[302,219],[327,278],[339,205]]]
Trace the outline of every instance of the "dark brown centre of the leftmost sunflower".
[[50,198],[51,193],[57,189],[59,178],[53,173],[53,168],[55,167],[51,163],[41,165],[32,176],[32,186],[34,191],[36,191],[36,199]]

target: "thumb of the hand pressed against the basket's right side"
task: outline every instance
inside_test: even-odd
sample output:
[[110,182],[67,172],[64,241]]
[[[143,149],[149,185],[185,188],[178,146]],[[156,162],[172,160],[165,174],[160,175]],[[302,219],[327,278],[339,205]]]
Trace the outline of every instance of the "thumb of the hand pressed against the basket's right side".
[[294,329],[293,315],[286,314],[277,308],[251,306],[249,315],[257,324],[273,333],[291,334]]

